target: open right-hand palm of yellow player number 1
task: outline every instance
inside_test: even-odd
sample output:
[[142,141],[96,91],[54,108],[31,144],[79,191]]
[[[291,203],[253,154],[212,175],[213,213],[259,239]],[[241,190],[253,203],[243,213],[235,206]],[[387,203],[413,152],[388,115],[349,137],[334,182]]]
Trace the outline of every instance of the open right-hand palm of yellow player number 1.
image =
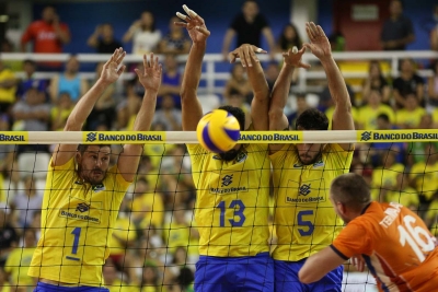
[[155,91],[160,89],[161,84],[161,75],[162,75],[162,67],[161,63],[158,62],[158,57],[153,56],[153,52],[150,54],[150,60],[148,61],[148,57],[143,55],[143,71],[135,69],[138,80],[141,85],[143,85],[147,91]]

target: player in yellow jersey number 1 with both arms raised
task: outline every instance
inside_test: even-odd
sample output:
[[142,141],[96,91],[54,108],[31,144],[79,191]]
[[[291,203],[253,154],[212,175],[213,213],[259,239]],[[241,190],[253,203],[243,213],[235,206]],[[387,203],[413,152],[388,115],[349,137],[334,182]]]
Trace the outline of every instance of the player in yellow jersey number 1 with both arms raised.
[[[122,74],[126,52],[117,49],[102,75],[71,112],[65,131],[80,131],[101,94]],[[151,54],[145,71],[136,70],[145,96],[134,130],[148,130],[161,83],[161,65]],[[134,180],[142,145],[126,144],[117,164],[108,167],[111,148],[104,144],[59,144],[48,166],[43,200],[42,234],[28,275],[38,278],[35,291],[108,291],[102,266],[118,209]]]

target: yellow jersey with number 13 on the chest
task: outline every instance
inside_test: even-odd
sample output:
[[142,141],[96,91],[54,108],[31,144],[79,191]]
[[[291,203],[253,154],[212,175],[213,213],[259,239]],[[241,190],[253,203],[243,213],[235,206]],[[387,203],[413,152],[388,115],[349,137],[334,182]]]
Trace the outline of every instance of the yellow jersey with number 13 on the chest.
[[255,256],[269,252],[267,144],[245,144],[233,161],[188,144],[197,189],[199,255]]

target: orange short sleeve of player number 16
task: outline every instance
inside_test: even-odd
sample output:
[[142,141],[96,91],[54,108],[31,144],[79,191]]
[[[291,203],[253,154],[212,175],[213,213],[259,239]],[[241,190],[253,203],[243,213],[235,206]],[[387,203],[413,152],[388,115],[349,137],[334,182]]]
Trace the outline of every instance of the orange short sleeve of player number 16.
[[355,255],[370,255],[372,242],[366,227],[358,222],[350,222],[334,240],[332,248],[343,256],[350,258]]

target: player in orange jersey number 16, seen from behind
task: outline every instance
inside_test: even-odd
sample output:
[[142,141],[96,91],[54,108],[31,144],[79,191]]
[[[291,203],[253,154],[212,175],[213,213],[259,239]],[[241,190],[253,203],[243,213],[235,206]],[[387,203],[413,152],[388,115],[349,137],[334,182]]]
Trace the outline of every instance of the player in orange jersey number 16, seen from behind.
[[300,281],[318,281],[361,256],[380,291],[437,290],[437,241],[419,217],[400,203],[371,201],[368,185],[353,173],[333,180],[330,200],[347,225],[331,246],[308,258]]

